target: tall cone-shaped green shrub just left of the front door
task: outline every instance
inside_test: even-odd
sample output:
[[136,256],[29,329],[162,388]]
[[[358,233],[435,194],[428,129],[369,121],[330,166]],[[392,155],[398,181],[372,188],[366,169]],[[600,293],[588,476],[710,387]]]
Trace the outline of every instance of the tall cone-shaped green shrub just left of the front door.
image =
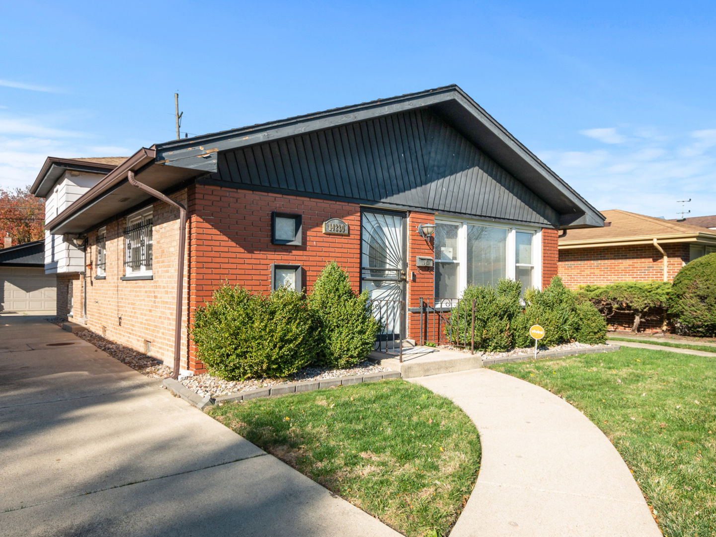
[[350,367],[373,350],[380,323],[369,307],[368,292],[354,293],[348,274],[330,262],[309,296],[309,307],[321,325],[317,363]]

